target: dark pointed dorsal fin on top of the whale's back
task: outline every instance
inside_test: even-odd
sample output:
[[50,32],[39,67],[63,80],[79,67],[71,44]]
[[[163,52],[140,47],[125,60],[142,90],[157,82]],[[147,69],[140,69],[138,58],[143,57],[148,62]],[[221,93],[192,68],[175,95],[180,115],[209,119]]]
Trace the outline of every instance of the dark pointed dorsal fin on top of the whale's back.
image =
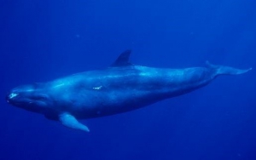
[[111,66],[113,67],[131,66],[132,64],[129,62],[130,54],[131,54],[131,49],[125,50],[125,52],[120,54],[119,57],[113,62]]

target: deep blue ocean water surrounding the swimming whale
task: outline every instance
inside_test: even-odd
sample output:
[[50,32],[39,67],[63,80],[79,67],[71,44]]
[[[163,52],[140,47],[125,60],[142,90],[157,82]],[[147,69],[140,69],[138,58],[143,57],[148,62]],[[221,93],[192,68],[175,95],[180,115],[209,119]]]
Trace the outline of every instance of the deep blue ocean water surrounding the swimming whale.
[[[255,160],[256,1],[0,1],[0,159]],[[67,129],[9,106],[17,85],[137,65],[253,67],[137,111]]]

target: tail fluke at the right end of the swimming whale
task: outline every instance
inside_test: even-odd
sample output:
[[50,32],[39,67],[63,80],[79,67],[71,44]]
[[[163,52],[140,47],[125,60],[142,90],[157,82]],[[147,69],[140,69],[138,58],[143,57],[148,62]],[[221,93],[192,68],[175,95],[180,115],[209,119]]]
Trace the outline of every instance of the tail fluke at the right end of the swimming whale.
[[247,70],[241,70],[236,69],[230,66],[218,66],[218,65],[212,65],[209,61],[206,61],[207,67],[212,68],[216,70],[216,75],[237,75],[237,74],[243,74],[247,71],[251,71],[253,68],[249,68]]

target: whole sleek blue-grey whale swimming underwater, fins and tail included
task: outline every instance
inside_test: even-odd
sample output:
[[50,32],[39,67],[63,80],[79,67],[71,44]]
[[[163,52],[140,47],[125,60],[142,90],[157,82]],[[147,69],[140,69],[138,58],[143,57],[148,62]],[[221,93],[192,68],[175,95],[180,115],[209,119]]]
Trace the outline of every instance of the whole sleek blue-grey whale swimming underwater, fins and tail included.
[[131,50],[119,54],[108,68],[84,71],[46,83],[11,89],[7,102],[26,111],[43,114],[71,129],[89,132],[81,119],[133,111],[211,83],[220,75],[252,70],[212,65],[181,69],[138,66],[130,62]]

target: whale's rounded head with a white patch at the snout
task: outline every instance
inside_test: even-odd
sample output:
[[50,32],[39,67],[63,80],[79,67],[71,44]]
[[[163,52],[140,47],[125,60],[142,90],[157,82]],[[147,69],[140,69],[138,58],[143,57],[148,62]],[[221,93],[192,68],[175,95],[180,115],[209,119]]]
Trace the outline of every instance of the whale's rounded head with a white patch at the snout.
[[6,95],[6,100],[10,105],[27,111],[43,112],[48,106],[49,97],[35,83],[11,89]]

